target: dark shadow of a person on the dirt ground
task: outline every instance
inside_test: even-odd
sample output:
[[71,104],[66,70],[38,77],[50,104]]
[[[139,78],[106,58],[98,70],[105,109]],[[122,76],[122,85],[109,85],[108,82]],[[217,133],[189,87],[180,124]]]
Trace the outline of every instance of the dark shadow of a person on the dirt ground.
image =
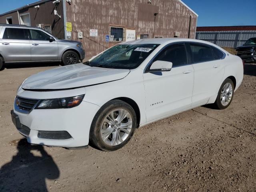
[[[18,153],[0,168],[0,191],[47,192],[46,178],[60,176],[58,166],[43,146],[33,146],[26,139],[18,142]],[[40,156],[31,153],[40,152]],[[36,152],[38,154],[38,152]]]

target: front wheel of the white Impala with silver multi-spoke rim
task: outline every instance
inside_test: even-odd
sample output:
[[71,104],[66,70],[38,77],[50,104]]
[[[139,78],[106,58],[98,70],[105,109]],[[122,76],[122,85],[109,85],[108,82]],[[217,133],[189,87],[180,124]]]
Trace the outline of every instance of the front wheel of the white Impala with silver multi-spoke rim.
[[[126,117],[122,120],[123,114]],[[112,121],[111,116],[114,116]],[[94,116],[90,128],[90,144],[103,151],[118,150],[132,138],[136,125],[136,114],[132,106],[121,100],[111,100]]]

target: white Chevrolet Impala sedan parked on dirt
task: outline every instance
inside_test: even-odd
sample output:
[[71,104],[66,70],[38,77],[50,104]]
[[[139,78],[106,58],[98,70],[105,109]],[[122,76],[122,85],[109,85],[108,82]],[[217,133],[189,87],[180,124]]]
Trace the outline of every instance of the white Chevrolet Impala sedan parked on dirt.
[[112,151],[139,126],[205,104],[227,108],[242,79],[242,60],[209,42],[123,42],[27,78],[12,121],[32,144]]

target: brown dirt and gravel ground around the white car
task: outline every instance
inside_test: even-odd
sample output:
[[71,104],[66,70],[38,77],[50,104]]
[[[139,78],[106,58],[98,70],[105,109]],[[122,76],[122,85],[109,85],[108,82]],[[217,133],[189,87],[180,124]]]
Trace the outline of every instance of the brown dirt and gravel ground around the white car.
[[[34,64],[35,65],[35,64]],[[31,146],[12,124],[20,83],[54,64],[0,71],[0,191],[256,191],[256,64],[226,110],[202,106],[138,128],[114,152]]]

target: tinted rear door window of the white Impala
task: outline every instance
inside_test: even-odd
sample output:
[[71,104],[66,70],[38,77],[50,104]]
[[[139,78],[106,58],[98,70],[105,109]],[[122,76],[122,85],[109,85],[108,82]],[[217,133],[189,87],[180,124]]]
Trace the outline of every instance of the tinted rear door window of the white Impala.
[[190,44],[193,63],[214,60],[212,48],[201,44]]

